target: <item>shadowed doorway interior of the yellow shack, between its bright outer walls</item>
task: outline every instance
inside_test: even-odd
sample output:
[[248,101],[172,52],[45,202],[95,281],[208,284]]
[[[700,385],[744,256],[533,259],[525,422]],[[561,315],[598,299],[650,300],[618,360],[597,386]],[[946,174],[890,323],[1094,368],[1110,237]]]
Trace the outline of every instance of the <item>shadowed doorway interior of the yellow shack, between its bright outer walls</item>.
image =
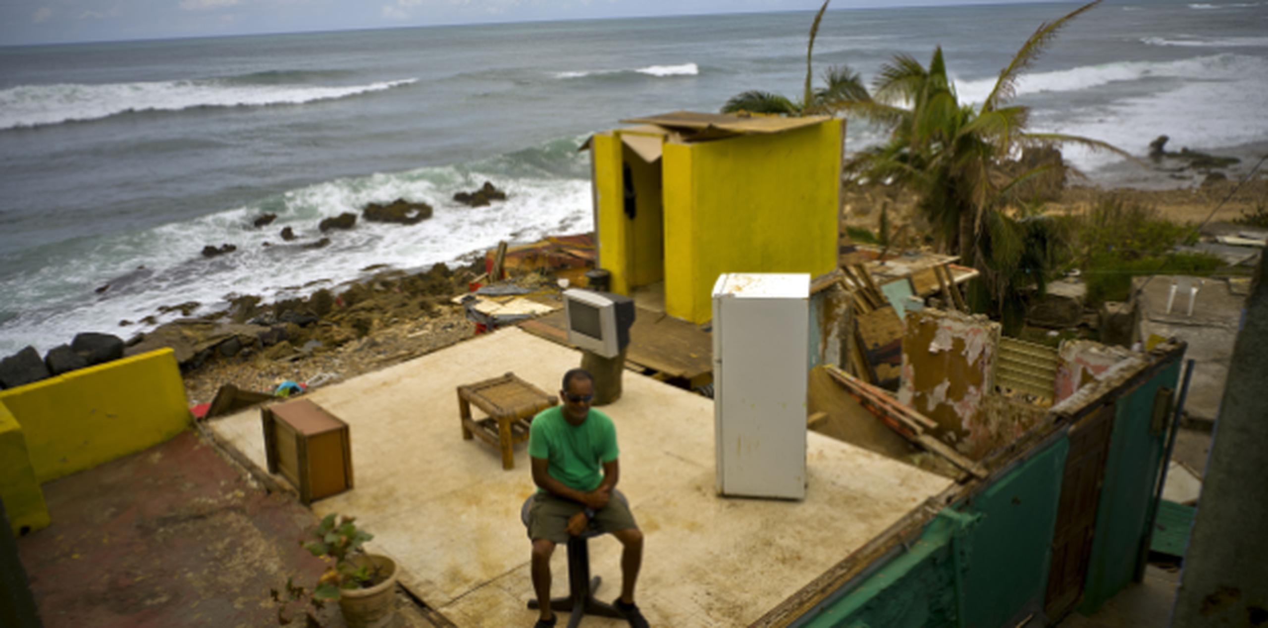
[[[634,180],[634,219],[629,225],[629,285],[637,288],[664,279],[664,212],[661,162],[648,164],[628,146],[621,157]],[[624,190],[623,190],[624,193]],[[624,202],[624,195],[623,195]]]

